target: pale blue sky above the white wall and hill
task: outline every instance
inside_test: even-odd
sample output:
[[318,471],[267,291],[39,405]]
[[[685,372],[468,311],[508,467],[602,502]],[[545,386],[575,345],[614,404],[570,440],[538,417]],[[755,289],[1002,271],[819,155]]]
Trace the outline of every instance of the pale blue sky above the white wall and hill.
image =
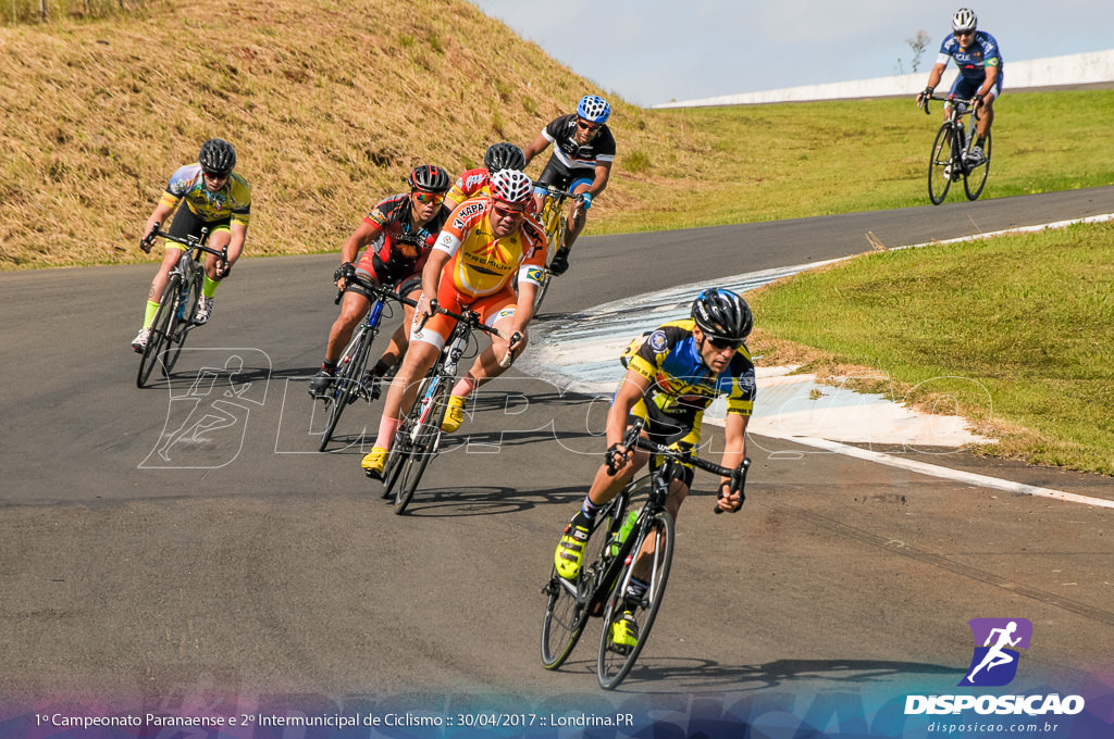
[[[605,93],[642,106],[910,72],[906,39],[918,30],[930,37],[918,70],[927,78],[961,7],[955,0],[472,2]],[[1112,0],[967,7],[998,39],[1007,86],[1010,60],[1114,49]]]

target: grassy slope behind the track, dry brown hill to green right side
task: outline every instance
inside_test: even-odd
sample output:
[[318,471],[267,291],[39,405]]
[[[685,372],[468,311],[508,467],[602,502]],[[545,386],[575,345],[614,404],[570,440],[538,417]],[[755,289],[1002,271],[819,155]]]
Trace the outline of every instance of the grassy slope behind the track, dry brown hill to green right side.
[[[938,116],[911,98],[644,110],[463,0],[123,7],[51,0],[49,22],[0,27],[0,269],[154,259],[139,230],[211,136],[253,187],[250,256],[338,250],[413,165],[467,169],[588,92],[618,140],[588,234],[927,201]],[[1005,96],[984,197],[1114,183],[1112,107],[1114,90]]]

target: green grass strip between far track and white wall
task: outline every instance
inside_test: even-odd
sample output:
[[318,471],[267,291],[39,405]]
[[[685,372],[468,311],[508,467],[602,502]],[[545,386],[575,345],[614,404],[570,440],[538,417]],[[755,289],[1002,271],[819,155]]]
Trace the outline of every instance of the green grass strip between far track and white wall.
[[[1114,184],[1111,109],[1114,90],[1004,95],[995,105],[994,161],[981,199]],[[910,96],[671,109],[656,116],[654,126],[701,135],[655,149],[652,167],[637,161],[647,177],[633,189],[646,203],[608,214],[603,227],[608,233],[928,205],[929,149],[942,108],[926,116]],[[616,135],[620,171],[625,156],[644,156],[624,148],[622,132]],[[683,186],[655,178],[674,167],[690,171]],[[655,189],[670,198],[655,198],[649,194]],[[952,188],[948,201],[961,199],[962,188]]]

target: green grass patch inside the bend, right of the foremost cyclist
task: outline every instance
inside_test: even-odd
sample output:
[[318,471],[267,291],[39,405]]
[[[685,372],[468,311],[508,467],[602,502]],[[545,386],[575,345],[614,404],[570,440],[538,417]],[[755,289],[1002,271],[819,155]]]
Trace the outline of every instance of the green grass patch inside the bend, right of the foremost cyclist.
[[752,296],[815,364],[885,371],[1000,437],[981,451],[1114,474],[1114,225],[863,255]]

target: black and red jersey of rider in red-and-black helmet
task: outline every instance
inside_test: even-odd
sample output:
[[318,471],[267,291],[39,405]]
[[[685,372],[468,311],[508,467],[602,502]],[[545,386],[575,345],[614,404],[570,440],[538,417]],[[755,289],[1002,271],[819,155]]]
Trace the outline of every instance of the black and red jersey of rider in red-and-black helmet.
[[383,237],[363,253],[356,272],[369,273],[380,283],[397,283],[421,272],[449,211],[441,208],[426,225],[417,228],[410,211],[407,193],[384,198],[372,208],[363,223],[379,227]]

